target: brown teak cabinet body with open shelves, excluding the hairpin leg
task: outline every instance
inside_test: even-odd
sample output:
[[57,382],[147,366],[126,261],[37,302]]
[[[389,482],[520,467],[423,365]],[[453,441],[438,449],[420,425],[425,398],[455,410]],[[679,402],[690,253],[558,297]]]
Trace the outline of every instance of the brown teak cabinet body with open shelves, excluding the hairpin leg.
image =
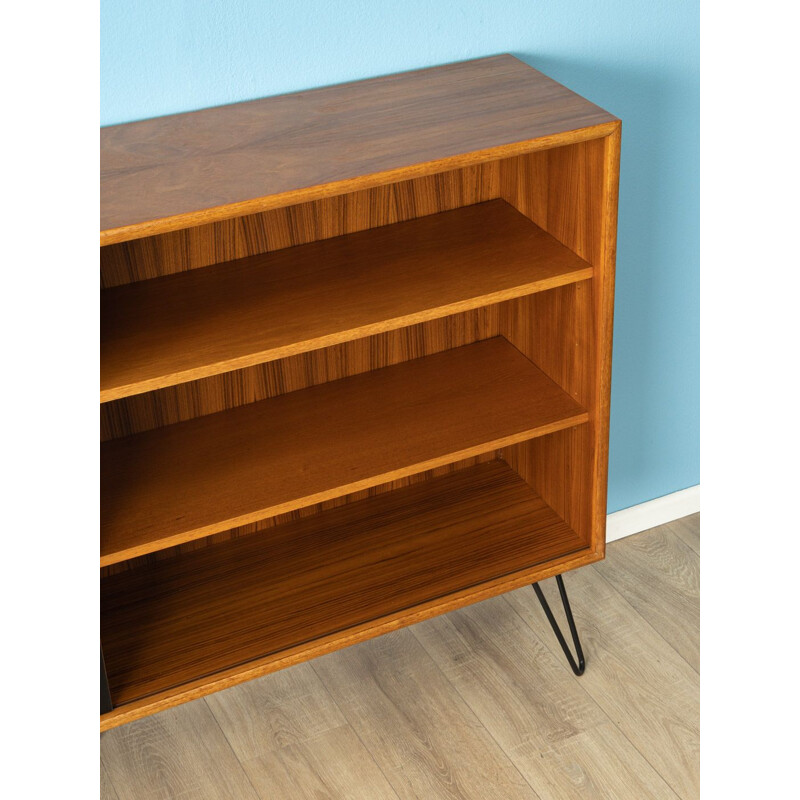
[[102,729],[603,557],[618,119],[501,55],[101,140]]

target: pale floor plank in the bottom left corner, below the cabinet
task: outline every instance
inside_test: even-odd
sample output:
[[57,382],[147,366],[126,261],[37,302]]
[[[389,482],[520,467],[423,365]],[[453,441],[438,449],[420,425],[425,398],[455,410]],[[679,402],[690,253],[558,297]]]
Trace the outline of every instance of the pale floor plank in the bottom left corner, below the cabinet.
[[119,800],[259,800],[203,701],[115,728],[100,744]]

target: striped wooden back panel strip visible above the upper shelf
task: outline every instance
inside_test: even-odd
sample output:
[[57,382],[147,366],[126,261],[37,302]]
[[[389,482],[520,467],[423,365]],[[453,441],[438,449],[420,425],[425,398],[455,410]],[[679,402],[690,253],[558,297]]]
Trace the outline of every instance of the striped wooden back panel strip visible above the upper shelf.
[[103,288],[171,275],[493,200],[499,162],[100,248]]

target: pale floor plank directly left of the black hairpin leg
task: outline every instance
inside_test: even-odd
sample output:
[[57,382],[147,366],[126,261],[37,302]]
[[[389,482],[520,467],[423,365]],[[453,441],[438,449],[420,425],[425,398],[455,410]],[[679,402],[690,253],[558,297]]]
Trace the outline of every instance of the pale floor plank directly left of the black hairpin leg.
[[504,598],[412,630],[542,800],[676,800]]

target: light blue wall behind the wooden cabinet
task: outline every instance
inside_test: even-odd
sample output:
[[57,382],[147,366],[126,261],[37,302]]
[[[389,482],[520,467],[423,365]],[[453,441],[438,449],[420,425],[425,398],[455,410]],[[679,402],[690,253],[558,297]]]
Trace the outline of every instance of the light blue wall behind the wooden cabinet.
[[623,120],[609,511],[699,482],[697,0],[102,0],[110,125],[510,52]]

